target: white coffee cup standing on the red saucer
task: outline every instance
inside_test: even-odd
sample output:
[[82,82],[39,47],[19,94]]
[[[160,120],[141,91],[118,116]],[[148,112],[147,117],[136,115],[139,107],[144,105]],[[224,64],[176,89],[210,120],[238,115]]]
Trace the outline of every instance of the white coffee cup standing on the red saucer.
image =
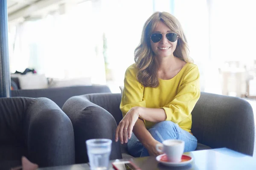
[[[184,152],[185,142],[177,139],[168,139],[163,141],[163,144],[157,144],[156,149],[158,152],[166,154],[168,161],[180,162]],[[160,149],[160,147],[162,149]]]

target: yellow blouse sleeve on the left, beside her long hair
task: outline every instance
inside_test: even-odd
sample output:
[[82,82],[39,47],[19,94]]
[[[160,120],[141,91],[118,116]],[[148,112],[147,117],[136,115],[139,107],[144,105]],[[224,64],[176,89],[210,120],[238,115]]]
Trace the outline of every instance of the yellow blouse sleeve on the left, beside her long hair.
[[[146,107],[145,99],[143,99],[143,85],[137,81],[134,70],[128,68],[125,72],[124,91],[120,104],[122,115],[125,116],[135,106]],[[145,120],[143,122],[145,123]]]

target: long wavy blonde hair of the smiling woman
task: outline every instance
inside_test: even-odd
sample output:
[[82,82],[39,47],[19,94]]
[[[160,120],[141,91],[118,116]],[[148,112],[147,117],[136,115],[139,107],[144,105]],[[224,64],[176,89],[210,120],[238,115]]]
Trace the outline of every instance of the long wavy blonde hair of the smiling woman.
[[171,31],[179,36],[177,39],[177,47],[173,55],[185,62],[193,62],[189,57],[189,46],[177,18],[167,12],[155,12],[145,22],[140,44],[134,51],[134,61],[138,69],[137,79],[144,87],[154,88],[159,85],[157,75],[158,66],[150,45],[150,36],[159,22],[166,24]]

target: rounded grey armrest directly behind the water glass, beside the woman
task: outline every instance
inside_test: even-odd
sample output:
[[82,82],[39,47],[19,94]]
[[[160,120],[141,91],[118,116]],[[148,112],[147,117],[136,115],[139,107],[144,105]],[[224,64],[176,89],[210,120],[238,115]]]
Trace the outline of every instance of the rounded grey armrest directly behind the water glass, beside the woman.
[[62,107],[62,110],[73,124],[76,163],[87,163],[89,161],[85,144],[88,139],[111,139],[110,159],[121,159],[120,144],[114,141],[117,127],[115,119],[108,111],[90,102],[85,96],[73,96]]

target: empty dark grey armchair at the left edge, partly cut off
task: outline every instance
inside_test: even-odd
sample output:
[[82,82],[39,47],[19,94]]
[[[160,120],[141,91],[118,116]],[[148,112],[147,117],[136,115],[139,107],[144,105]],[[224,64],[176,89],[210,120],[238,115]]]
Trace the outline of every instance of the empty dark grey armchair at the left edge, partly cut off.
[[47,98],[0,98],[0,169],[21,165],[21,156],[39,167],[75,163],[73,126]]

